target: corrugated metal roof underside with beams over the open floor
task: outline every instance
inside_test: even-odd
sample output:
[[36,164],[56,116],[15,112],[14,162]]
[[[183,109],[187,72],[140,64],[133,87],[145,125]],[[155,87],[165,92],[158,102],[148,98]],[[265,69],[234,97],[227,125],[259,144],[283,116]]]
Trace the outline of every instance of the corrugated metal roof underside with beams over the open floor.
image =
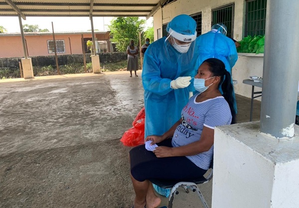
[[166,0],[0,0],[0,16],[151,16]]

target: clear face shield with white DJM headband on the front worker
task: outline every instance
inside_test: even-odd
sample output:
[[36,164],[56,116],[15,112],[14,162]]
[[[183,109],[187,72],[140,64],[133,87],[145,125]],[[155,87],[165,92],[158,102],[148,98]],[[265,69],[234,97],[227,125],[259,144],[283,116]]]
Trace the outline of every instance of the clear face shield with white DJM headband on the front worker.
[[194,35],[183,35],[170,28],[163,46],[164,58],[180,66],[191,63],[194,55],[195,39],[196,32]]

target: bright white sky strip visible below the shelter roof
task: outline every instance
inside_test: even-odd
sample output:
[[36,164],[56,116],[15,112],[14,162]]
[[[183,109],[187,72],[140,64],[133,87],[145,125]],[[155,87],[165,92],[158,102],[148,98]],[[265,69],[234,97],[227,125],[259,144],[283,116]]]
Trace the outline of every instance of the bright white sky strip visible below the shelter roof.
[[[140,17],[146,19],[145,17]],[[108,26],[113,17],[93,17],[94,29],[100,31],[109,30]],[[52,32],[52,22],[55,32],[87,31],[91,30],[89,17],[30,17],[22,19],[22,24],[38,25],[40,29],[47,28]],[[147,20],[146,28],[151,26],[152,17]],[[20,32],[19,20],[17,16],[0,16],[0,26],[7,32]]]

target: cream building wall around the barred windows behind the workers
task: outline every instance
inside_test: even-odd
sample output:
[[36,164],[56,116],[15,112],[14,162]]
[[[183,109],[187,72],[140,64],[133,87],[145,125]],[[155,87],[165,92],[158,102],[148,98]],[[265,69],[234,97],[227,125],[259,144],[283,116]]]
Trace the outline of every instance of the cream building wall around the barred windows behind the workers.
[[[168,23],[178,14],[202,13],[202,34],[210,31],[212,22],[212,9],[234,3],[234,31],[233,38],[242,40],[245,25],[245,0],[176,0],[163,8],[159,8],[153,15],[154,39],[157,39],[157,29],[160,28],[162,36],[162,24]],[[235,85],[236,93],[251,98],[251,86],[243,84],[243,80],[249,76],[263,77],[263,55],[239,54],[239,59],[233,68],[233,79],[238,81]],[[258,89],[261,90],[261,89]],[[260,100],[261,98],[259,98]]]

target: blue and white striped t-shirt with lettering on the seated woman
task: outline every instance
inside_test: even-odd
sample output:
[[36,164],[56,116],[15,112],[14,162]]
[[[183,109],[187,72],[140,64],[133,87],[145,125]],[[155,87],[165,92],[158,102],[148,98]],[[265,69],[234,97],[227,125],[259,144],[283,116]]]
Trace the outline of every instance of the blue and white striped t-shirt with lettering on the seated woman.
[[[184,146],[200,140],[203,126],[214,129],[215,126],[229,125],[232,114],[228,103],[222,97],[216,97],[200,103],[195,101],[199,94],[190,98],[181,111],[182,123],[179,124],[172,137],[172,146]],[[207,170],[213,157],[214,145],[197,155],[186,156],[196,166]]]

